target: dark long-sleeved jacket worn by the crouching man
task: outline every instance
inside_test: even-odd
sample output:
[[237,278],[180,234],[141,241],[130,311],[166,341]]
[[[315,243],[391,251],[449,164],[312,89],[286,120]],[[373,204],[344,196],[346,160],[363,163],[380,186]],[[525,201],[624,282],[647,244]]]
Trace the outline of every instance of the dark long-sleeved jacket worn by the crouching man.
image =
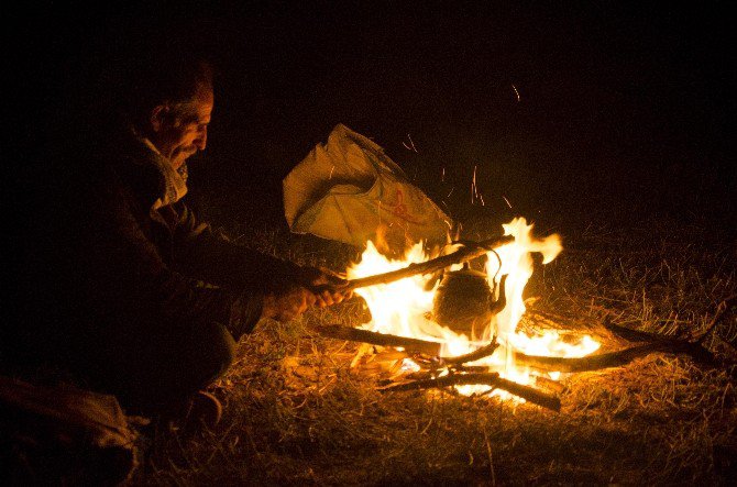
[[28,277],[42,309],[15,324],[20,359],[89,370],[121,348],[186,340],[210,322],[238,341],[265,294],[300,284],[300,267],[229,242],[183,201],[152,210],[166,186],[156,155],[133,137],[121,146],[87,166],[74,202],[57,212],[61,231],[42,245],[53,257]]

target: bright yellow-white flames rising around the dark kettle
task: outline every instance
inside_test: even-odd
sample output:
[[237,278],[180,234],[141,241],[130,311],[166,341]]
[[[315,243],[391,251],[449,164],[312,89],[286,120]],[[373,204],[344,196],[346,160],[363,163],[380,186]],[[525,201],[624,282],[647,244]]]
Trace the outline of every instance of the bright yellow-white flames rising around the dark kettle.
[[[498,289],[502,276],[507,275],[505,286],[507,305],[490,320],[486,329],[480,333],[479,340],[471,340],[465,334],[457,333],[431,320],[437,287],[427,289],[428,276],[415,276],[392,284],[358,289],[355,292],[366,300],[372,314],[372,321],[364,328],[381,333],[440,342],[443,356],[473,352],[496,336],[501,345],[497,351],[492,356],[469,365],[486,366],[490,370],[498,372],[502,377],[520,384],[530,381],[531,372],[514,364],[514,351],[528,355],[581,357],[597,350],[600,344],[587,335],[580,337],[578,343],[570,343],[570,340],[562,340],[557,331],[547,331],[539,336],[517,331],[517,325],[526,311],[522,291],[532,276],[535,267],[532,254],[541,254],[542,264],[549,264],[560,254],[563,246],[557,234],[543,239],[534,236],[534,225],[528,224],[524,218],[514,219],[502,226],[504,234],[513,235],[515,240],[488,253],[486,275],[492,289]],[[384,257],[376,246],[369,242],[360,263],[349,267],[348,276],[355,279],[388,273],[428,258],[429,256],[422,251],[421,242],[411,246],[404,258],[394,261]],[[419,367],[411,359],[405,358],[402,368],[413,370]],[[551,375],[552,378],[558,378],[557,373]],[[486,386],[457,388],[466,395],[488,390]]]

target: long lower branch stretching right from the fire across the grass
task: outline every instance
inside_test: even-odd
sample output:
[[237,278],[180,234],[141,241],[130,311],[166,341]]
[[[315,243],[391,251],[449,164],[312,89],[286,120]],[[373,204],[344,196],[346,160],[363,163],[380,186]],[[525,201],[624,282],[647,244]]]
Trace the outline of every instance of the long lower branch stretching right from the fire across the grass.
[[580,358],[547,357],[515,352],[515,362],[517,365],[527,365],[528,367],[541,368],[549,372],[572,373],[620,367],[629,364],[635,358],[644,357],[656,352],[685,353],[700,361],[706,361],[711,356],[711,354],[701,345],[689,342],[666,341],[647,343],[645,345],[632,346],[617,352],[590,355]]

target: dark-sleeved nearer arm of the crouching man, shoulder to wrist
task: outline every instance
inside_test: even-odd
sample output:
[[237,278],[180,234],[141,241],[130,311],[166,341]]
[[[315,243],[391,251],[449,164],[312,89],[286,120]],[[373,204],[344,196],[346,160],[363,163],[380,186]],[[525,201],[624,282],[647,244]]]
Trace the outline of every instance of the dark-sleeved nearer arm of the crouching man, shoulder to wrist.
[[[91,292],[101,309],[128,316],[144,313],[152,323],[197,326],[218,321],[238,339],[253,329],[263,310],[263,292],[239,295],[222,286],[185,276],[163,261],[143,232],[127,199],[106,195],[95,221],[88,264]],[[95,211],[95,210],[94,210]]]

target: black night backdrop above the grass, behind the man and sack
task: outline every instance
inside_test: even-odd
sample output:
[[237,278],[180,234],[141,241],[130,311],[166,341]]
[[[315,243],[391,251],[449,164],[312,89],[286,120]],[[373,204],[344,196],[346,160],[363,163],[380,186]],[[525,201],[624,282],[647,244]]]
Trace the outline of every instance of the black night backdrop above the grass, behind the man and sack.
[[21,213],[48,203],[76,174],[53,147],[105,124],[100,100],[125,75],[111,66],[146,40],[184,36],[219,70],[190,198],[242,222],[285,225],[282,178],[344,123],[459,219],[667,214],[734,228],[727,2],[485,3],[46,2],[11,15],[20,144],[7,196]]

